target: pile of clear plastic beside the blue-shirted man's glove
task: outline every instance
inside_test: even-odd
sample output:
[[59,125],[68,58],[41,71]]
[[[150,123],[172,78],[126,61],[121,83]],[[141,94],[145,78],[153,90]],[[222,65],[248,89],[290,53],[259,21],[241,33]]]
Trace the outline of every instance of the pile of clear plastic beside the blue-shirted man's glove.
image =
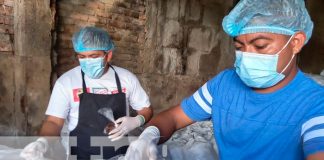
[[160,156],[166,160],[218,159],[210,121],[197,122],[177,131],[159,148]]

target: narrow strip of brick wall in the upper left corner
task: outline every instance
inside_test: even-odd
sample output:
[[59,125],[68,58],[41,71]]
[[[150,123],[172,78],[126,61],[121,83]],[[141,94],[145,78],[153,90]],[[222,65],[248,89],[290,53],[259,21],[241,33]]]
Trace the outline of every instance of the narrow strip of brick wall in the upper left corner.
[[0,0],[0,54],[13,53],[13,3],[14,0]]

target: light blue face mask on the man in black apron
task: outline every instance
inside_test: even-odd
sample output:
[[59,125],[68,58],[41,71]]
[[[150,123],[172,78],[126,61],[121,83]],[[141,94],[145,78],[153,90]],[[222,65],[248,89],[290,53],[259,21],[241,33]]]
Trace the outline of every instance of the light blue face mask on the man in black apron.
[[105,71],[104,57],[79,59],[80,66],[84,74],[91,79],[100,78]]

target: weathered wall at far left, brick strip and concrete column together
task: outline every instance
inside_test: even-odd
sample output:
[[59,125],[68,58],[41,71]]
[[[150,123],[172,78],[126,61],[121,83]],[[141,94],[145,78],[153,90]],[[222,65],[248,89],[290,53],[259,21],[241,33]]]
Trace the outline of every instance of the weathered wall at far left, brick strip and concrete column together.
[[50,1],[0,4],[0,135],[33,135],[50,94]]

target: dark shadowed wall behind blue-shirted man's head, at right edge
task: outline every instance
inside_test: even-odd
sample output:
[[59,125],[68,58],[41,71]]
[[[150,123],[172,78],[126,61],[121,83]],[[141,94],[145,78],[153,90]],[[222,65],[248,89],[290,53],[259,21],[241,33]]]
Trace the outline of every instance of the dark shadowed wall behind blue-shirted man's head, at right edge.
[[313,35],[299,56],[299,66],[308,73],[324,70],[324,1],[308,0],[307,8],[314,22]]

